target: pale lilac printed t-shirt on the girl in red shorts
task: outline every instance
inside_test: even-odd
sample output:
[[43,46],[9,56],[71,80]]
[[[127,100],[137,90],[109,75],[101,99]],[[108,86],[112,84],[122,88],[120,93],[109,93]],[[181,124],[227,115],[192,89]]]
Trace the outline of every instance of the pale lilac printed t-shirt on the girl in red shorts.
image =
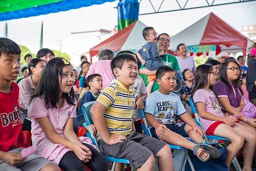
[[[224,114],[221,112],[221,107],[219,105],[218,99],[212,91],[207,91],[205,89],[199,89],[195,92],[193,96],[193,101],[196,105],[197,102],[202,102],[205,104],[205,109],[207,112],[212,113],[213,115],[220,116],[224,118]],[[217,121],[210,121],[199,116],[201,124],[204,128],[204,131],[207,131],[210,125]]]

